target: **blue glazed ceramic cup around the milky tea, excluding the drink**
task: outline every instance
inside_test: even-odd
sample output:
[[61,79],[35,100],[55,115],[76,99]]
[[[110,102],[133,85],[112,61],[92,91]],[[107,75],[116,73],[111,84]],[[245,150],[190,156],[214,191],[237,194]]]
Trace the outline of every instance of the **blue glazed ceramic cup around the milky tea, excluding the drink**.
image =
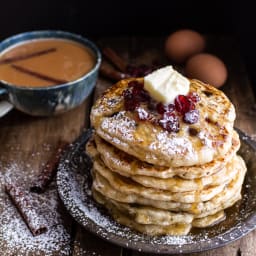
[[54,30],[26,32],[7,38],[0,43],[0,53],[15,44],[43,38],[69,39],[85,45],[95,54],[96,64],[79,79],[56,86],[20,87],[0,80],[0,96],[3,95],[15,108],[33,116],[55,115],[81,104],[96,84],[101,63],[101,54],[93,42],[79,35]]

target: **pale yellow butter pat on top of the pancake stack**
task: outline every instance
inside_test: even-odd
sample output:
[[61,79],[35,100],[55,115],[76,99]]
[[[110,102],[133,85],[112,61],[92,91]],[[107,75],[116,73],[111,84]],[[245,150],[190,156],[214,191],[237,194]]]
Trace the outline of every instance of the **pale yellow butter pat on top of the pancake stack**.
[[160,68],[144,77],[144,89],[153,99],[164,104],[173,103],[180,94],[187,95],[189,85],[189,80],[172,66]]

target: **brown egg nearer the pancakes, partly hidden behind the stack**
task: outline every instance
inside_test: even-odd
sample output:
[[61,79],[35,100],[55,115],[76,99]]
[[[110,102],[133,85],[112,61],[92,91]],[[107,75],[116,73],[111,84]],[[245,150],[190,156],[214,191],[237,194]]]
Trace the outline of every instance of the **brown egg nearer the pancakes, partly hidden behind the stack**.
[[189,78],[196,78],[217,88],[225,83],[228,76],[223,61],[207,53],[191,57],[186,63],[185,73]]

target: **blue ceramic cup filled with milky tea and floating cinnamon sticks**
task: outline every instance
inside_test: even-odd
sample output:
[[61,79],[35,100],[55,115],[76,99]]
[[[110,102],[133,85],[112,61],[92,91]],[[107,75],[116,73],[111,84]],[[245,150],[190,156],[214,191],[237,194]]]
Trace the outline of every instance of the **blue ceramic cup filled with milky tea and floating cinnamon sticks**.
[[18,34],[0,43],[0,95],[30,115],[63,113],[90,95],[100,63],[97,46],[80,35]]

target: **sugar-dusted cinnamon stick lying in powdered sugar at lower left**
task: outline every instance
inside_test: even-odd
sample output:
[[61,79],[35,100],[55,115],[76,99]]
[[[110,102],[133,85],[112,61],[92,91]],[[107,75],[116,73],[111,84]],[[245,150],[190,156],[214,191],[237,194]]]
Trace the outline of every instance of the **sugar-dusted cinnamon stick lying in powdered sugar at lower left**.
[[47,231],[47,222],[33,206],[32,197],[10,180],[5,183],[5,191],[10,196],[31,233],[34,236],[45,233]]

